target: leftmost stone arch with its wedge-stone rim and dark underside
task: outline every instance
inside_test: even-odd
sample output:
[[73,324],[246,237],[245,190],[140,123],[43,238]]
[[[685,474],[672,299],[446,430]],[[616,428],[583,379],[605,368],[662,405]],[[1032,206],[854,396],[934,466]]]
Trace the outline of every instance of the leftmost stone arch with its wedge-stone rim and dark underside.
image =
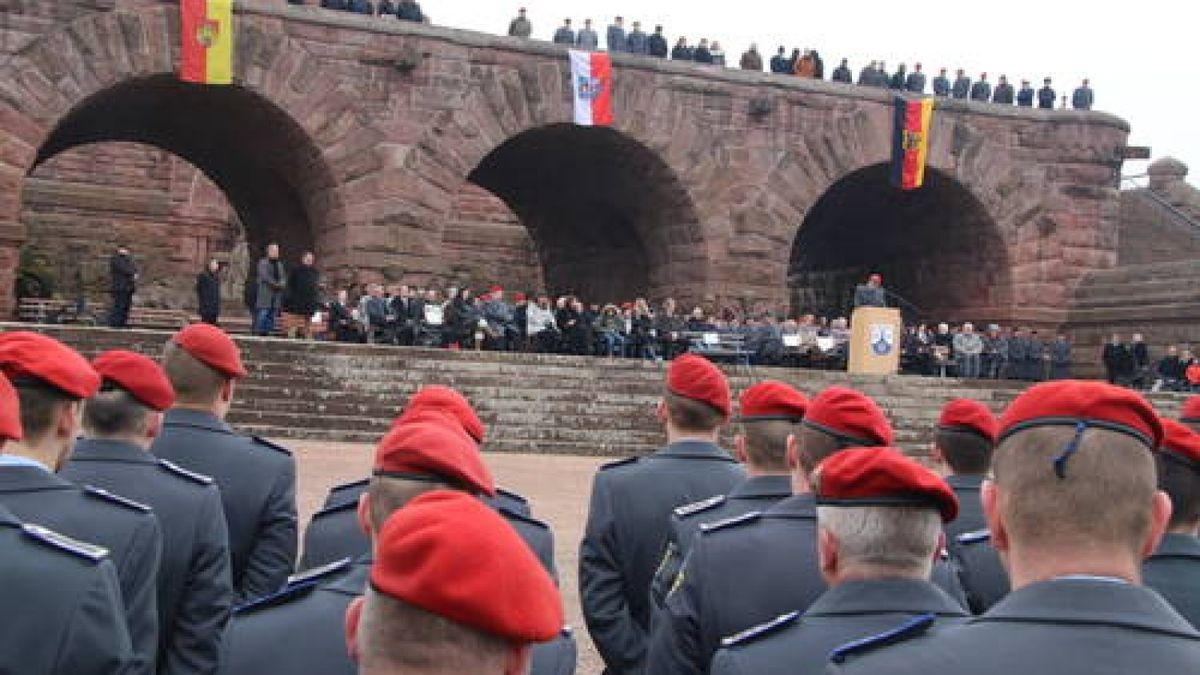
[[[150,143],[184,156],[221,185],[244,217],[263,220],[272,204],[283,204],[304,221],[300,228],[311,232],[326,269],[349,264],[346,233],[355,216],[344,208],[343,190],[368,171],[362,155],[380,135],[356,109],[352,85],[292,41],[283,22],[242,17],[236,29],[235,85],[227,88],[175,79],[173,4],[83,16],[0,67],[0,282],[12,287],[25,239],[25,177],[55,153],[101,141]],[[155,115],[156,107],[164,114]],[[221,114],[230,112],[239,114]],[[286,235],[289,227],[276,219],[257,232]],[[5,293],[0,311],[11,305]]]

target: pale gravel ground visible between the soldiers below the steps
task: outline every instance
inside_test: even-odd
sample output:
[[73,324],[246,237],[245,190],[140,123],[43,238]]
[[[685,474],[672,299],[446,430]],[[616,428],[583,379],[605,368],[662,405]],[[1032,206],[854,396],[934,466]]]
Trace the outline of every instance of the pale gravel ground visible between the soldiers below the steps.
[[[330,488],[367,474],[372,447],[361,443],[286,441],[296,458],[296,501],[300,522],[325,500]],[[604,664],[588,639],[580,613],[576,568],[578,543],[588,514],[592,476],[605,458],[560,455],[486,454],[487,466],[499,485],[524,495],[534,515],[554,530],[556,558],[563,585],[566,621],[575,628],[580,646],[578,675],[600,675]]]

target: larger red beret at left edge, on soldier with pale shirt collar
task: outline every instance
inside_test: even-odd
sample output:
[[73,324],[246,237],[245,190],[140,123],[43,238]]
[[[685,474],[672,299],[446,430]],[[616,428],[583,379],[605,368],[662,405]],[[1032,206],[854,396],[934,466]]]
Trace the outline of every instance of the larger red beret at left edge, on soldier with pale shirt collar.
[[37,380],[73,399],[88,399],[100,388],[100,376],[79,352],[26,330],[0,335],[0,371],[14,382]]

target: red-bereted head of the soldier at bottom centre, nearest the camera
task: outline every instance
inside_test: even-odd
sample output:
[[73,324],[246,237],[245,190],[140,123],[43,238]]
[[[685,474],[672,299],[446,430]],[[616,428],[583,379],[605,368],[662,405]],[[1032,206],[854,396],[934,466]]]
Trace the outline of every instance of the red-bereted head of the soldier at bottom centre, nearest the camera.
[[494,512],[439,490],[378,528],[371,584],[346,625],[360,675],[522,675],[530,646],[558,635],[563,603]]

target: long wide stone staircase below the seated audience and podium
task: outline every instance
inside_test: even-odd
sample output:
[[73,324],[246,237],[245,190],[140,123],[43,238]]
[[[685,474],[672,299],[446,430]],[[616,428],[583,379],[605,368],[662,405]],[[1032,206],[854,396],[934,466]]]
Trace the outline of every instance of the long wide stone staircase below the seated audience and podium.
[[[0,324],[38,329],[84,352],[131,348],[158,356],[169,333],[102,328]],[[403,401],[422,384],[464,393],[488,425],[498,452],[628,455],[662,442],[654,405],[665,364],[583,357],[448,352],[367,345],[331,345],[238,338],[250,377],[236,392],[230,422],[272,438],[374,442]],[[763,378],[790,382],[809,394],[832,384],[874,396],[896,428],[899,444],[928,449],[941,406],[973,398],[997,412],[1020,387],[1007,382],[869,377],[845,372],[727,369],[736,393]],[[1156,404],[1174,414],[1180,396]]]

